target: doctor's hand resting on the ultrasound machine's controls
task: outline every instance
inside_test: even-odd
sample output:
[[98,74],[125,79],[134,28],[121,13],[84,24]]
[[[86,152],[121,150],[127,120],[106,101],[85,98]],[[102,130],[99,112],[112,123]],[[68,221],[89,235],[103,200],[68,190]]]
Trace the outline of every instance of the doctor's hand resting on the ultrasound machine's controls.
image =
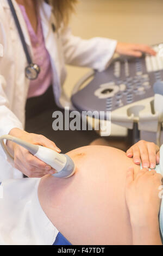
[[156,55],[156,52],[148,45],[128,44],[125,42],[118,42],[115,52],[133,57],[141,57],[142,53]]

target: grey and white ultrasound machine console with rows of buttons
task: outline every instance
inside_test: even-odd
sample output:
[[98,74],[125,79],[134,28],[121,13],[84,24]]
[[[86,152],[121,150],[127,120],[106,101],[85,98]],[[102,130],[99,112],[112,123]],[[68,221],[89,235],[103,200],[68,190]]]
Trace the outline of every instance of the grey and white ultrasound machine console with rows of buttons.
[[73,106],[80,112],[111,111],[114,124],[161,133],[153,85],[163,81],[163,44],[154,45],[153,49],[156,56],[121,56],[114,58],[107,70],[91,71],[74,87]]

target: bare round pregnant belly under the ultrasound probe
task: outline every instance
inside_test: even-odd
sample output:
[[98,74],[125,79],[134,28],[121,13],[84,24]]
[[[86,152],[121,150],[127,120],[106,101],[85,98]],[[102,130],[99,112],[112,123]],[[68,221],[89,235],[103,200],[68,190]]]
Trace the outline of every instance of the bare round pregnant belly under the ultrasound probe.
[[126,170],[140,169],[121,150],[88,146],[68,153],[76,173],[42,178],[39,200],[49,220],[73,245],[131,244]]

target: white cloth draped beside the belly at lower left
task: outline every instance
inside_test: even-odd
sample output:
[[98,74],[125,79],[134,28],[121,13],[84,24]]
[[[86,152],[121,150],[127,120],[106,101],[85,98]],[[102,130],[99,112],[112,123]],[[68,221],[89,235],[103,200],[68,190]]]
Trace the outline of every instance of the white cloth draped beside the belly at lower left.
[[58,230],[49,221],[39,203],[39,182],[40,179],[28,178],[2,182],[1,245],[53,245]]

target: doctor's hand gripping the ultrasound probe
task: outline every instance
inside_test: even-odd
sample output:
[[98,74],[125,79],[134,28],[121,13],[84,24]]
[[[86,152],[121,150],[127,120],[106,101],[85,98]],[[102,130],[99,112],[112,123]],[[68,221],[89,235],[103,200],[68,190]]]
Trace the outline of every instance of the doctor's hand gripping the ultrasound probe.
[[[61,151],[59,148],[57,148],[54,142],[42,135],[28,133],[17,128],[12,129],[9,135],[23,139],[24,141],[32,144],[42,145],[43,147],[53,149],[58,153]],[[29,178],[41,178],[46,174],[55,173],[55,170],[51,166],[48,166],[48,164],[37,159],[37,157],[30,154],[27,149],[24,149],[20,145],[7,141],[7,147],[10,154],[14,157],[15,168],[20,170]]]

